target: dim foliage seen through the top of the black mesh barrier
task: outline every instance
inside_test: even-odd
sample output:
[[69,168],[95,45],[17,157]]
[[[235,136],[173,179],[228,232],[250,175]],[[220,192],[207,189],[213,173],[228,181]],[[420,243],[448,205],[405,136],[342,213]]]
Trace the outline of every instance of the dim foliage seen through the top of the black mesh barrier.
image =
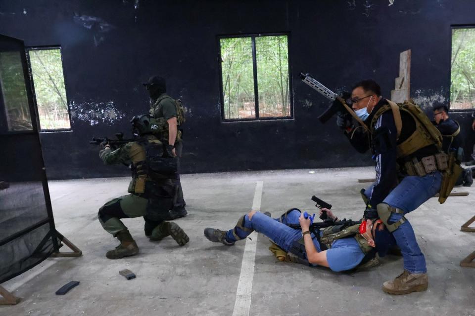
[[20,52],[0,53],[0,85],[8,130],[31,130],[30,108]]

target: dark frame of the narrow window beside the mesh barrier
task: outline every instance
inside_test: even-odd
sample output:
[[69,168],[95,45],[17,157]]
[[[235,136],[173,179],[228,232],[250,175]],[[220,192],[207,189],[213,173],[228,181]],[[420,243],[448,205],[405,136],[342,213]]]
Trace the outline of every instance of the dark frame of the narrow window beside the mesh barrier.
[[[69,128],[51,128],[51,129],[44,129],[41,127],[40,123],[40,116],[39,116],[39,108],[38,108],[38,102],[36,99],[36,91],[35,91],[35,82],[33,80],[33,70],[31,68],[31,60],[30,60],[30,51],[31,50],[50,50],[50,49],[59,49],[59,55],[61,56],[61,68],[62,68],[62,73],[63,73],[63,80],[64,80],[64,93],[66,95],[66,102],[67,102],[67,107],[68,107],[68,117],[69,117]],[[69,106],[69,97],[68,97],[68,89],[67,89],[67,84],[66,84],[66,75],[64,72],[64,62],[63,62],[63,52],[61,45],[44,45],[44,46],[25,46],[25,53],[26,53],[26,59],[28,62],[28,74],[30,76],[30,81],[31,81],[31,90],[33,93],[33,103],[36,108],[36,112],[38,114],[38,131],[40,133],[54,133],[54,132],[72,132],[73,131],[73,122],[71,119],[71,108]]]

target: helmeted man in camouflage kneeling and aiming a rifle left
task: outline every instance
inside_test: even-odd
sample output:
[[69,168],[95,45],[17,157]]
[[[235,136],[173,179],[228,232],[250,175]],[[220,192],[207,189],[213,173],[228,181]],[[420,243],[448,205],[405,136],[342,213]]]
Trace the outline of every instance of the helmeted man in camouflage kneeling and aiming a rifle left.
[[109,259],[139,253],[137,243],[121,218],[143,216],[145,235],[151,240],[171,236],[180,246],[189,241],[180,226],[165,221],[173,206],[177,161],[168,156],[163,143],[152,134],[154,123],[148,115],[134,117],[131,122],[134,134],[140,137],[115,150],[109,144],[101,144],[104,148],[99,152],[105,164],[124,163],[132,170],[129,194],[108,201],[98,212],[104,230],[120,241],[115,249],[107,251]]

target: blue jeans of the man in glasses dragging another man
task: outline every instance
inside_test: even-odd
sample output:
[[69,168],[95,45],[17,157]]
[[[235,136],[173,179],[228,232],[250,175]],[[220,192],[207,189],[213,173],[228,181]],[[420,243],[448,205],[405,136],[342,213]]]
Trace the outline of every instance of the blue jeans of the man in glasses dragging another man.
[[[415,210],[430,197],[440,190],[442,175],[439,171],[427,174],[424,177],[407,176],[384,198],[382,201],[390,206],[404,211],[404,215]],[[367,197],[371,196],[374,184],[365,191]],[[376,206],[376,205],[374,205]],[[392,213],[389,221],[397,222],[402,214]],[[411,223],[405,221],[392,235],[401,249],[404,259],[404,269],[410,273],[426,273],[426,259],[416,241],[416,235]]]

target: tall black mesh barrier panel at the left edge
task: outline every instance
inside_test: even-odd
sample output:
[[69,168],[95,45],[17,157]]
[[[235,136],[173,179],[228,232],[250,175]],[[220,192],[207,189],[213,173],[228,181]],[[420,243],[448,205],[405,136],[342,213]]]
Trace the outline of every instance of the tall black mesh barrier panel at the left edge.
[[59,249],[21,40],[0,35],[0,283]]

